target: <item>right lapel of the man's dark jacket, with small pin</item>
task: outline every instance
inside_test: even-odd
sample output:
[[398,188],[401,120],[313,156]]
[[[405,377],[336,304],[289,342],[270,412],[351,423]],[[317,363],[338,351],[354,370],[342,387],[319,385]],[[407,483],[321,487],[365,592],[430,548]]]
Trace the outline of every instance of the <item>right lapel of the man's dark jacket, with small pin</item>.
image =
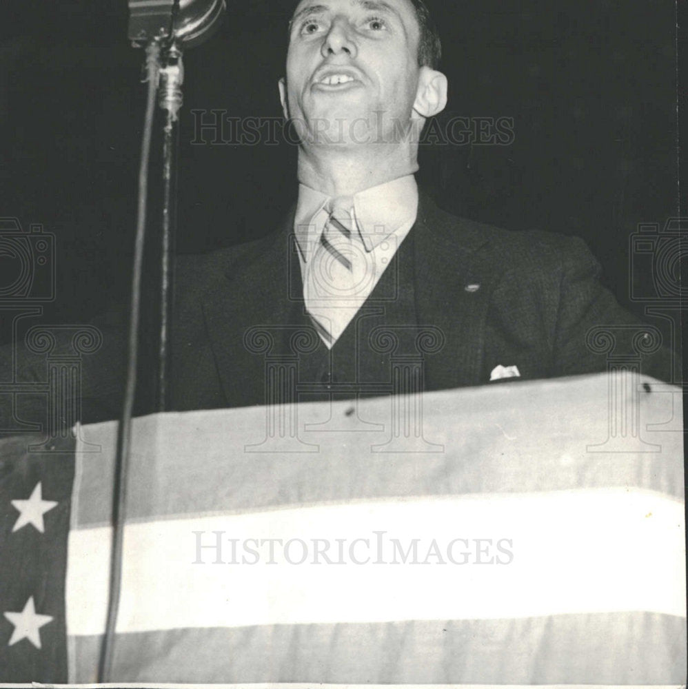
[[415,234],[418,325],[435,326],[445,346],[425,358],[426,389],[472,386],[480,380],[485,319],[495,269],[480,248],[488,239],[473,223],[443,214],[421,194]]

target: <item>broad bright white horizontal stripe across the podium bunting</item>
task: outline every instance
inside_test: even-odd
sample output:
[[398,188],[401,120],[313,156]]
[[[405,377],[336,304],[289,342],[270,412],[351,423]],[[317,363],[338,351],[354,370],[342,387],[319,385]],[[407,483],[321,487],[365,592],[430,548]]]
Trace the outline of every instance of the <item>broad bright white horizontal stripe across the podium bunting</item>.
[[[229,539],[301,539],[309,557],[284,562],[281,548],[259,564],[210,564],[206,548],[193,564],[196,536],[214,544],[223,532],[221,560],[232,559]],[[467,539],[469,564],[374,564],[374,532],[398,539],[406,551],[420,539],[418,560],[432,541],[444,559],[450,543]],[[105,626],[110,528],[70,533],[66,582],[69,635],[97,635]],[[345,562],[312,564],[313,539],[327,539],[330,559],[344,539]],[[358,542],[354,564],[348,548]],[[500,557],[507,539],[511,564],[475,564],[476,539],[492,539],[481,559]],[[290,552],[301,559],[300,544]],[[485,546],[485,544],[483,544]],[[487,546],[485,546],[487,547]],[[454,559],[467,549],[454,545]],[[304,506],[261,513],[130,524],[125,531],[119,633],[177,628],[330,624],[436,619],[505,619],[538,615],[647,611],[685,616],[683,509],[658,493],[624,489],[526,495],[432,497]],[[390,562],[391,549],[383,560]],[[249,559],[254,559],[249,556]],[[401,559],[401,558],[399,558]]]

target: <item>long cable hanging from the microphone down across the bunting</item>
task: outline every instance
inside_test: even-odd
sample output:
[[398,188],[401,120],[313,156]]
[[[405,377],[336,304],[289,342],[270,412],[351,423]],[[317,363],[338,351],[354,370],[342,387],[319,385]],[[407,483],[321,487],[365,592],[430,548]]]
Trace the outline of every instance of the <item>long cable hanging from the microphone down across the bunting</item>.
[[141,163],[139,165],[139,198],[136,209],[136,238],[134,240],[134,265],[132,269],[131,312],[129,320],[127,378],[122,415],[117,428],[117,455],[114,464],[112,491],[112,546],[110,548],[110,582],[108,586],[108,618],[105,624],[101,655],[98,665],[98,683],[107,683],[112,671],[114,637],[117,628],[117,612],[122,588],[122,553],[127,497],[127,475],[130,458],[132,415],[136,397],[136,368],[139,359],[139,324],[141,316],[141,276],[145,223],[148,207],[148,174],[150,149],[155,115],[156,93],[160,74],[160,44],[150,41],[145,48],[145,81],[148,92],[141,138]]

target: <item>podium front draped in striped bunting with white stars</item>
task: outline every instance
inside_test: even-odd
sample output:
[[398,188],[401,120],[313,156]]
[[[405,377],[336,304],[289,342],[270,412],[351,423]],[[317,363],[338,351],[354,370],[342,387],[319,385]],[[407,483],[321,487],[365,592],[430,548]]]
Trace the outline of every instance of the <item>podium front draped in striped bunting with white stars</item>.
[[[114,679],[685,683],[681,420],[624,373],[137,419]],[[116,431],[0,444],[0,681],[94,681]]]

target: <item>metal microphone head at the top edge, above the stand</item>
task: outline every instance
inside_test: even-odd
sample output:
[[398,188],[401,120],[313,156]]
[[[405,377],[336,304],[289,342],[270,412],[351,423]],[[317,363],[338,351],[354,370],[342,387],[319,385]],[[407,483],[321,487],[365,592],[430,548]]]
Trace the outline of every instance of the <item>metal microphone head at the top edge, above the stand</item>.
[[219,28],[225,0],[129,0],[128,36],[135,47],[174,41],[201,45]]

